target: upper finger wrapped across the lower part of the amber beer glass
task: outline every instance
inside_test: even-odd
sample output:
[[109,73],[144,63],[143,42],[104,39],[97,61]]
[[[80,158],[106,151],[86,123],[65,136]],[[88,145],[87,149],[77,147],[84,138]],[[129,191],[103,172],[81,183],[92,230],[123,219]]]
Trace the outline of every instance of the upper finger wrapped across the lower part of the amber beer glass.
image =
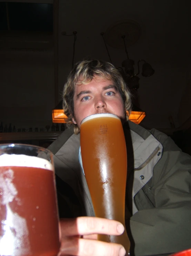
[[124,227],[120,222],[96,217],[61,219],[60,224],[62,236],[91,234],[121,235],[124,231]]

